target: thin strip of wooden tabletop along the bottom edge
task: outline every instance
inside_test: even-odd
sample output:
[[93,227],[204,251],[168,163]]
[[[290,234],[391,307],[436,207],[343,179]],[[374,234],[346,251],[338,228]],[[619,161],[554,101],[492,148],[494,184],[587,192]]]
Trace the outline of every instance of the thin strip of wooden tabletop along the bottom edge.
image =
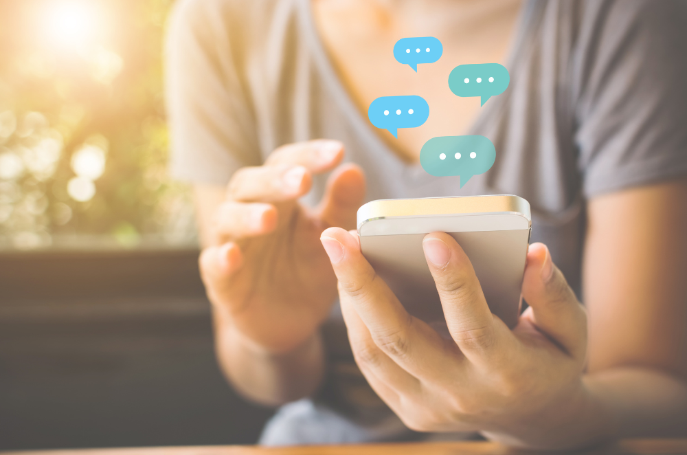
[[[49,450],[2,452],[3,455],[524,455],[545,452],[509,450],[502,445],[476,441],[451,443],[396,443],[308,447],[149,447],[136,449]],[[664,455],[687,454],[687,439],[633,439],[578,455]]]

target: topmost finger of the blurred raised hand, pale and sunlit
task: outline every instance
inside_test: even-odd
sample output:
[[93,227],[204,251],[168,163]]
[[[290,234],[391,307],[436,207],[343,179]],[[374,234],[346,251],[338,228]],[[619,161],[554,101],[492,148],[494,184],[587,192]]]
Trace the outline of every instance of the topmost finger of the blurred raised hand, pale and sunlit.
[[335,140],[318,139],[281,146],[267,157],[265,166],[289,164],[304,166],[312,173],[335,168],[343,159],[343,144]]

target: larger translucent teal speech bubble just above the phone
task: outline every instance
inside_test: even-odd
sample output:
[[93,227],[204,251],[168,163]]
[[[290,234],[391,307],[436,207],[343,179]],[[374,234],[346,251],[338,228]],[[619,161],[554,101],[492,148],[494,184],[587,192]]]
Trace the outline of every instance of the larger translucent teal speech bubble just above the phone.
[[428,174],[460,175],[460,188],[473,175],[486,173],[495,161],[494,144],[480,135],[432,137],[420,150],[420,164]]

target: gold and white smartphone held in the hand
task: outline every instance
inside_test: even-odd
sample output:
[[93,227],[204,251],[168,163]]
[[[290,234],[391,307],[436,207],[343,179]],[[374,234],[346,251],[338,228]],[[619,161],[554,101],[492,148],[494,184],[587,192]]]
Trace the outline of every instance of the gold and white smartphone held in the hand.
[[423,238],[446,232],[467,254],[489,309],[511,329],[520,313],[532,217],[513,195],[371,201],[357,213],[363,256],[403,306],[433,324],[444,314],[429,272]]

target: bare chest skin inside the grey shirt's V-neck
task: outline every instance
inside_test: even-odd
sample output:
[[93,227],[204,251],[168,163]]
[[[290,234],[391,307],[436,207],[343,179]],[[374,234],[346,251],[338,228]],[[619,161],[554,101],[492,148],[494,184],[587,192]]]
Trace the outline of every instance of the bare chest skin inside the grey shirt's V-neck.
[[[401,129],[397,138],[388,131],[376,130],[401,159],[414,163],[431,137],[469,131],[480,113],[480,100],[455,96],[449,89],[449,73],[462,64],[504,61],[520,2],[485,2],[490,4],[465,10],[447,6],[445,14],[427,10],[424,17],[422,9],[414,16],[411,11],[396,14],[372,6],[363,11],[330,3],[314,3],[315,23],[359,112],[365,115],[370,103],[381,96],[417,95],[427,100],[429,118],[422,126]],[[438,38],[443,46],[441,58],[418,65],[417,72],[398,63],[392,49],[405,36]]]

